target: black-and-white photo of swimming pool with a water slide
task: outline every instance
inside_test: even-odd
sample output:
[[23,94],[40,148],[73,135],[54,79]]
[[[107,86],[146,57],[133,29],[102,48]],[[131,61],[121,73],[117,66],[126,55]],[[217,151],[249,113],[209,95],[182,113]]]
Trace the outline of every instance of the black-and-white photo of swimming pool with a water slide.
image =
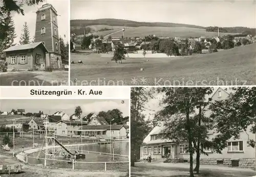
[[0,176],[129,176],[129,99],[1,99]]

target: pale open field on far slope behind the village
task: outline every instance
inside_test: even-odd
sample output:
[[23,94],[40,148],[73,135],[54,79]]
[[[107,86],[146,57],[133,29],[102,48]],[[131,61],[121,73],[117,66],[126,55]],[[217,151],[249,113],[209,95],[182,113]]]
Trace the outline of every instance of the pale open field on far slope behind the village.
[[[108,35],[113,33],[115,30],[102,31],[94,33],[95,35]],[[220,36],[234,34],[234,33],[220,33]],[[122,32],[114,33],[112,37],[121,37]],[[218,33],[215,32],[206,32],[205,29],[199,28],[188,28],[188,27],[129,27],[125,28],[124,36],[125,37],[144,37],[148,35],[156,35],[162,37],[212,37],[218,36]]]

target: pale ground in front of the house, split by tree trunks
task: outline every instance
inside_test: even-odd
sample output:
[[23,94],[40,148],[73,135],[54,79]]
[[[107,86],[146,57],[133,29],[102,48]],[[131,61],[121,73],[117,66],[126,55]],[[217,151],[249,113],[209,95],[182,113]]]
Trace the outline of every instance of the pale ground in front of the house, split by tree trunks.
[[[256,171],[251,169],[215,165],[200,165],[200,174],[195,174],[196,177],[249,177],[254,175]],[[136,163],[135,167],[131,167],[131,177],[135,176],[188,177],[189,164]]]

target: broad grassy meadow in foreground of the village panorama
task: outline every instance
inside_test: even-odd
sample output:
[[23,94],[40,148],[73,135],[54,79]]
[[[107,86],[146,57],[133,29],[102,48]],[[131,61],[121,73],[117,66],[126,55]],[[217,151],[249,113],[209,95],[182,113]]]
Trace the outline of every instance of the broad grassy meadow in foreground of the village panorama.
[[[149,61],[127,58],[122,64],[100,54],[71,55],[76,62],[71,64],[71,85],[255,85],[255,47]],[[83,64],[77,64],[78,60]]]

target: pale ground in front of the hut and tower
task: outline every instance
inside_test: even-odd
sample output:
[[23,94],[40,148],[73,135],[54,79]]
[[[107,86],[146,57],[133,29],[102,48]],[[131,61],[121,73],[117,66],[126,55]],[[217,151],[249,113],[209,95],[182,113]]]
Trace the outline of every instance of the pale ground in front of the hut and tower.
[[2,72],[0,86],[58,86],[68,84],[68,71]]

